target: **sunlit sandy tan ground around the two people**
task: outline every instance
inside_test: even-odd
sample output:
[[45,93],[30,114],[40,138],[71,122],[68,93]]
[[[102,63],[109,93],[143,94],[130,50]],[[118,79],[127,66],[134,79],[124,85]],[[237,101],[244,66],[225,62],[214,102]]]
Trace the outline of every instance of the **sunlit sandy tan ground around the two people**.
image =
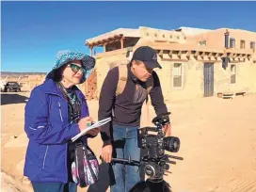
[[[27,97],[29,92],[1,95],[1,191],[32,191],[23,177]],[[167,104],[172,113],[172,136],[181,139],[180,151],[172,154],[184,157],[170,166],[171,173],[165,177],[173,192],[256,191],[256,95]],[[97,120],[98,102],[88,101],[88,105],[91,116]],[[150,119],[154,116],[151,107]],[[152,124],[143,119],[142,125]],[[89,140],[98,157],[101,144],[100,136]]]

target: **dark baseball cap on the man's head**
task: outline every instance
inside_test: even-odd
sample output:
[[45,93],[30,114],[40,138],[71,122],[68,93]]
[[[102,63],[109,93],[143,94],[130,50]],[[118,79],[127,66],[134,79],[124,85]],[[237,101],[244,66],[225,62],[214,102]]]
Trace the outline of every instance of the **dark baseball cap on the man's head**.
[[146,65],[147,68],[160,68],[162,69],[161,65],[157,62],[157,54],[149,46],[141,46],[138,47],[132,57],[132,60],[140,60]]

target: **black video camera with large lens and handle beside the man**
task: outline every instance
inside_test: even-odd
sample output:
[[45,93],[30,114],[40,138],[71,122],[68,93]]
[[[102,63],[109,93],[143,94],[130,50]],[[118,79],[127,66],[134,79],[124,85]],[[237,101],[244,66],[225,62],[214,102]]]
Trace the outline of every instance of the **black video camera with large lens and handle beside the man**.
[[[112,158],[112,162],[122,162],[129,165],[144,166],[145,174],[149,177],[150,182],[160,183],[163,181],[165,171],[168,171],[168,164],[176,164],[168,158],[183,160],[182,157],[173,156],[165,153],[178,152],[180,149],[180,139],[175,136],[166,136],[162,128],[169,123],[168,115],[163,114],[152,120],[156,127],[144,127],[139,130],[138,147],[145,151],[140,161],[129,159]],[[149,134],[156,132],[156,135]]]

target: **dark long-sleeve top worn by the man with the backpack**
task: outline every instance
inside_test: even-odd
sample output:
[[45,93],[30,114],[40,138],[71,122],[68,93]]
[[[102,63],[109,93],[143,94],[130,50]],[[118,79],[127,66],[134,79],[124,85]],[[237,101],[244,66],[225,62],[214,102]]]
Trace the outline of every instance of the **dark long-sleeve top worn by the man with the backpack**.
[[[105,79],[100,94],[98,119],[112,117],[112,122],[106,123],[101,127],[101,136],[104,145],[111,142],[110,131],[113,124],[125,126],[139,126],[141,108],[147,98],[146,83],[138,81],[131,72],[130,64],[127,65],[127,82],[122,93],[116,97],[116,89],[119,81],[119,68],[110,70]],[[168,112],[164,103],[162,88],[156,72],[152,72],[153,88],[150,96],[156,115]]]

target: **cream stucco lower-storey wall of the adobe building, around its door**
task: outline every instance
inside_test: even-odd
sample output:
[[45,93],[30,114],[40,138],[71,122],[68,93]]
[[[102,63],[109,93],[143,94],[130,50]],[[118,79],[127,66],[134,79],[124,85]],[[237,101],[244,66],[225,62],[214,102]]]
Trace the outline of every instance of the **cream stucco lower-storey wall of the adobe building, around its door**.
[[[109,63],[127,59],[124,52],[117,55],[104,56],[97,58],[97,91],[100,94],[104,78],[109,70]],[[155,69],[157,72],[165,100],[186,100],[200,98],[204,95],[204,76],[203,62],[195,60],[191,57],[188,61],[171,61],[162,59],[158,56],[158,61],[162,69]],[[173,87],[173,66],[174,63],[182,63],[183,65],[183,86],[182,88]],[[236,83],[231,84],[231,65],[236,65]],[[256,63],[246,60],[245,62],[229,63],[228,68],[222,68],[221,62],[214,63],[214,93],[226,91],[246,90],[248,92],[256,92]]]

